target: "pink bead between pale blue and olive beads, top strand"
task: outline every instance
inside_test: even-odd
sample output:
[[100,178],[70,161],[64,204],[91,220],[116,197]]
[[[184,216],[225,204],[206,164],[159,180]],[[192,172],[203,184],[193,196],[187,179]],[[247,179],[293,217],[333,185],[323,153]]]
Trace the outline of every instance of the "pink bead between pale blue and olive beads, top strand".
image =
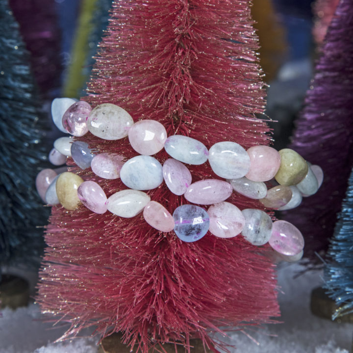
[[278,151],[269,146],[253,146],[248,151],[250,170],[246,177],[252,181],[267,181],[272,179],[280,166]]

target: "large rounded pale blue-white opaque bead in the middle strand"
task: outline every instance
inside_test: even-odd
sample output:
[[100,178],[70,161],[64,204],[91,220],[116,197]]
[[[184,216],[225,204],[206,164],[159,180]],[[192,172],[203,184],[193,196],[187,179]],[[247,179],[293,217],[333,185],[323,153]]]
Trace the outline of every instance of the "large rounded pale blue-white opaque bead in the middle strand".
[[120,178],[130,189],[155,189],[163,182],[162,165],[151,156],[138,155],[123,165]]

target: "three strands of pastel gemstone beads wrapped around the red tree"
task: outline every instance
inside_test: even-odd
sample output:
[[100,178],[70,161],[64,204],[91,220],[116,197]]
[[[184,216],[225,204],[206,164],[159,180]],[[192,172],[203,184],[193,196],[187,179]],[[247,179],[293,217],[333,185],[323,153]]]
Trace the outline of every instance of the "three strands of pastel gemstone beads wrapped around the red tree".
[[[226,200],[233,191],[257,199],[266,208],[279,210],[297,207],[303,196],[316,193],[323,181],[319,166],[311,165],[290,149],[276,151],[269,146],[253,146],[247,151],[235,142],[214,144],[209,151],[202,142],[183,135],[167,137],[162,124],[153,120],[133,123],[121,107],[104,103],[93,110],[85,101],[55,99],[51,107],[53,121],[61,131],[83,136],[90,131],[106,140],[128,137],[131,147],[140,153],[126,162],[124,157],[95,154],[82,141],[61,137],[54,142],[49,160],[54,165],[71,156],[81,169],[91,167],[102,178],[121,181],[128,187],[108,199],[95,181],[83,181],[74,173],[60,175],[43,170],[36,179],[40,196],[47,204],[61,203],[73,210],[82,202],[94,213],[107,210],[120,217],[134,217],[143,212],[146,222],[161,232],[174,230],[185,242],[201,239],[207,231],[220,238],[240,233],[252,245],[267,242],[282,255],[300,259],[304,240],[301,232],[286,221],[272,222],[259,209],[240,210]],[[162,149],[172,157],[163,166],[151,155]],[[192,183],[183,164],[200,165],[208,160],[213,172],[225,180],[205,179]],[[279,185],[267,190],[264,181],[275,178]],[[175,195],[184,195],[190,204],[178,206],[173,215],[160,203],[151,201],[142,190],[158,187],[163,180]],[[208,210],[192,204],[210,205]]]

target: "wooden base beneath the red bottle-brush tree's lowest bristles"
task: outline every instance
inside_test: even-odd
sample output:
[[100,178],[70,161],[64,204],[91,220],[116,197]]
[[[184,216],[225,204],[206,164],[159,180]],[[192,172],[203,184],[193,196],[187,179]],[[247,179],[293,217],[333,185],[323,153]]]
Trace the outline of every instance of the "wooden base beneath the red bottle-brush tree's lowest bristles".
[[[108,337],[105,337],[99,347],[98,353],[131,353],[135,352],[134,349],[130,350],[129,346],[126,346],[122,343],[122,334],[113,333]],[[203,348],[202,341],[200,339],[191,339],[190,345],[192,348],[190,349],[191,353],[211,353],[210,349],[206,350]],[[177,351],[182,353],[185,352],[185,349],[182,346],[177,346]],[[157,352],[166,352],[166,353],[176,353],[176,348],[173,343],[166,343],[162,346],[157,346],[152,348],[149,353],[157,353]]]

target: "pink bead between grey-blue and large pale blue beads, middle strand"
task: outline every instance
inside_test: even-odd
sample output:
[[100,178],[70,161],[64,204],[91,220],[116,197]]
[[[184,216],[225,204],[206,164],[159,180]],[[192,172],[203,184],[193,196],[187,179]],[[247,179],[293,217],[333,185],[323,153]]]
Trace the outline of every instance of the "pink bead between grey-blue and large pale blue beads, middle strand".
[[91,168],[94,174],[104,179],[117,179],[124,165],[123,159],[120,154],[100,153],[93,157]]

